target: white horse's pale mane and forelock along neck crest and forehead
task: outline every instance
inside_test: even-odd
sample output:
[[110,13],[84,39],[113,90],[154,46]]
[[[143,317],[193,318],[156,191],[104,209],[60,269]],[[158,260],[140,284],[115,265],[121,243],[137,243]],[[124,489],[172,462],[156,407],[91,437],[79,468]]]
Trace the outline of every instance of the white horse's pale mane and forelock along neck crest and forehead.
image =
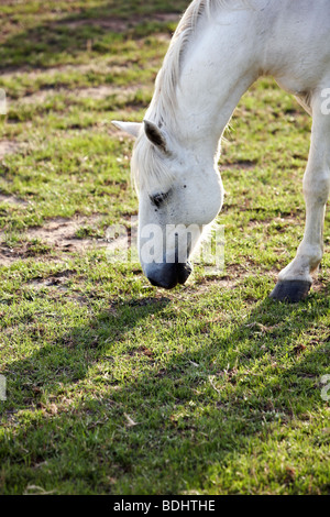
[[[155,122],[160,128],[166,127],[170,130],[176,120],[176,86],[178,84],[183,54],[190,42],[199,20],[207,15],[211,19],[216,9],[252,9],[252,0],[195,0],[190,3],[172,37],[168,51],[165,55],[163,66],[160,69],[155,90],[151,105],[146,111],[145,119]],[[166,118],[166,120],[165,120]],[[136,190],[141,183],[148,184],[150,175],[160,183],[164,178],[170,180],[160,155],[143,131],[136,139],[132,157],[132,180]]]

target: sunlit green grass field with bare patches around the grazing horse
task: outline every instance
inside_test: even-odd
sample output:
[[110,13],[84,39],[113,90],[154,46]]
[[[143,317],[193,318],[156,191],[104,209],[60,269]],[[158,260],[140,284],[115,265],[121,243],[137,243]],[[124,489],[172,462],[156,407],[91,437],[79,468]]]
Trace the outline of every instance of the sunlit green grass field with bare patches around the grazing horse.
[[296,100],[261,79],[234,112],[223,272],[109,262],[138,213],[110,121],[143,119],[187,4],[1,2],[0,494],[330,492],[329,215],[309,297],[268,298],[304,232]]

